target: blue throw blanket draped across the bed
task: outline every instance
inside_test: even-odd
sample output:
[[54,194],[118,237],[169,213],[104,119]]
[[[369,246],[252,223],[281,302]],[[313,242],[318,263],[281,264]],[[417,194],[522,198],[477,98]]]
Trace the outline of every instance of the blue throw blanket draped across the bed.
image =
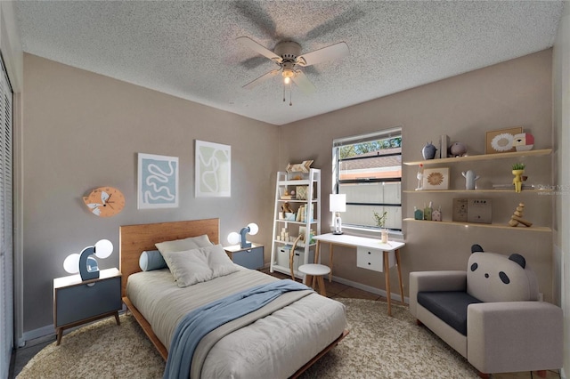
[[210,302],[191,310],[178,323],[168,351],[164,379],[188,379],[194,350],[209,332],[233,319],[258,310],[280,294],[311,289],[290,279],[254,286],[238,294]]

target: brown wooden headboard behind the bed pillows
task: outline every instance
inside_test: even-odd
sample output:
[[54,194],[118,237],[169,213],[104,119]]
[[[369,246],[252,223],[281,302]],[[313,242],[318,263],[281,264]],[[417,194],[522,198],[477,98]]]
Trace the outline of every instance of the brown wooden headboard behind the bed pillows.
[[123,275],[121,297],[126,296],[126,280],[129,275],[141,271],[139,257],[145,250],[156,250],[157,242],[172,241],[208,234],[213,244],[220,242],[220,219],[204,219],[183,222],[159,222],[119,227],[119,270]]

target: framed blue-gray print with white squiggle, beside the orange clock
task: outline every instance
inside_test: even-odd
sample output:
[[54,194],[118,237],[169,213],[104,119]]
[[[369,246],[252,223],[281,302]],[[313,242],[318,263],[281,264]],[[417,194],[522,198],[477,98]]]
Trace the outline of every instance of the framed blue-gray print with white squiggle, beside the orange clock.
[[178,207],[178,157],[138,157],[138,209]]

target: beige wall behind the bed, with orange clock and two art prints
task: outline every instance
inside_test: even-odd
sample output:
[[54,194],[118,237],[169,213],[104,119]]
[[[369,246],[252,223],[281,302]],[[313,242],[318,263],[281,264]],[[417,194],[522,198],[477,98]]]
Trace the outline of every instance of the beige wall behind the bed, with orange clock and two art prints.
[[[62,267],[68,254],[109,238],[116,251],[99,265],[118,267],[120,225],[219,217],[224,245],[248,222],[260,228],[252,239],[269,244],[277,126],[34,55],[24,56],[24,77],[25,332],[53,323],[52,280],[69,275]],[[197,139],[232,146],[232,198],[194,198]],[[138,152],[179,157],[178,208],[137,210]],[[126,196],[123,212],[107,219],[82,200],[103,185]]]

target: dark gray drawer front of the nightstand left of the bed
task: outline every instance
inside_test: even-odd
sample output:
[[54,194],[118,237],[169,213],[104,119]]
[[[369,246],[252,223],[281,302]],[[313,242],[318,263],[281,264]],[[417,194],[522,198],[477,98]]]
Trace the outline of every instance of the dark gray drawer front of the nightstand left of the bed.
[[107,278],[90,284],[66,286],[55,291],[55,327],[120,310],[121,278]]

